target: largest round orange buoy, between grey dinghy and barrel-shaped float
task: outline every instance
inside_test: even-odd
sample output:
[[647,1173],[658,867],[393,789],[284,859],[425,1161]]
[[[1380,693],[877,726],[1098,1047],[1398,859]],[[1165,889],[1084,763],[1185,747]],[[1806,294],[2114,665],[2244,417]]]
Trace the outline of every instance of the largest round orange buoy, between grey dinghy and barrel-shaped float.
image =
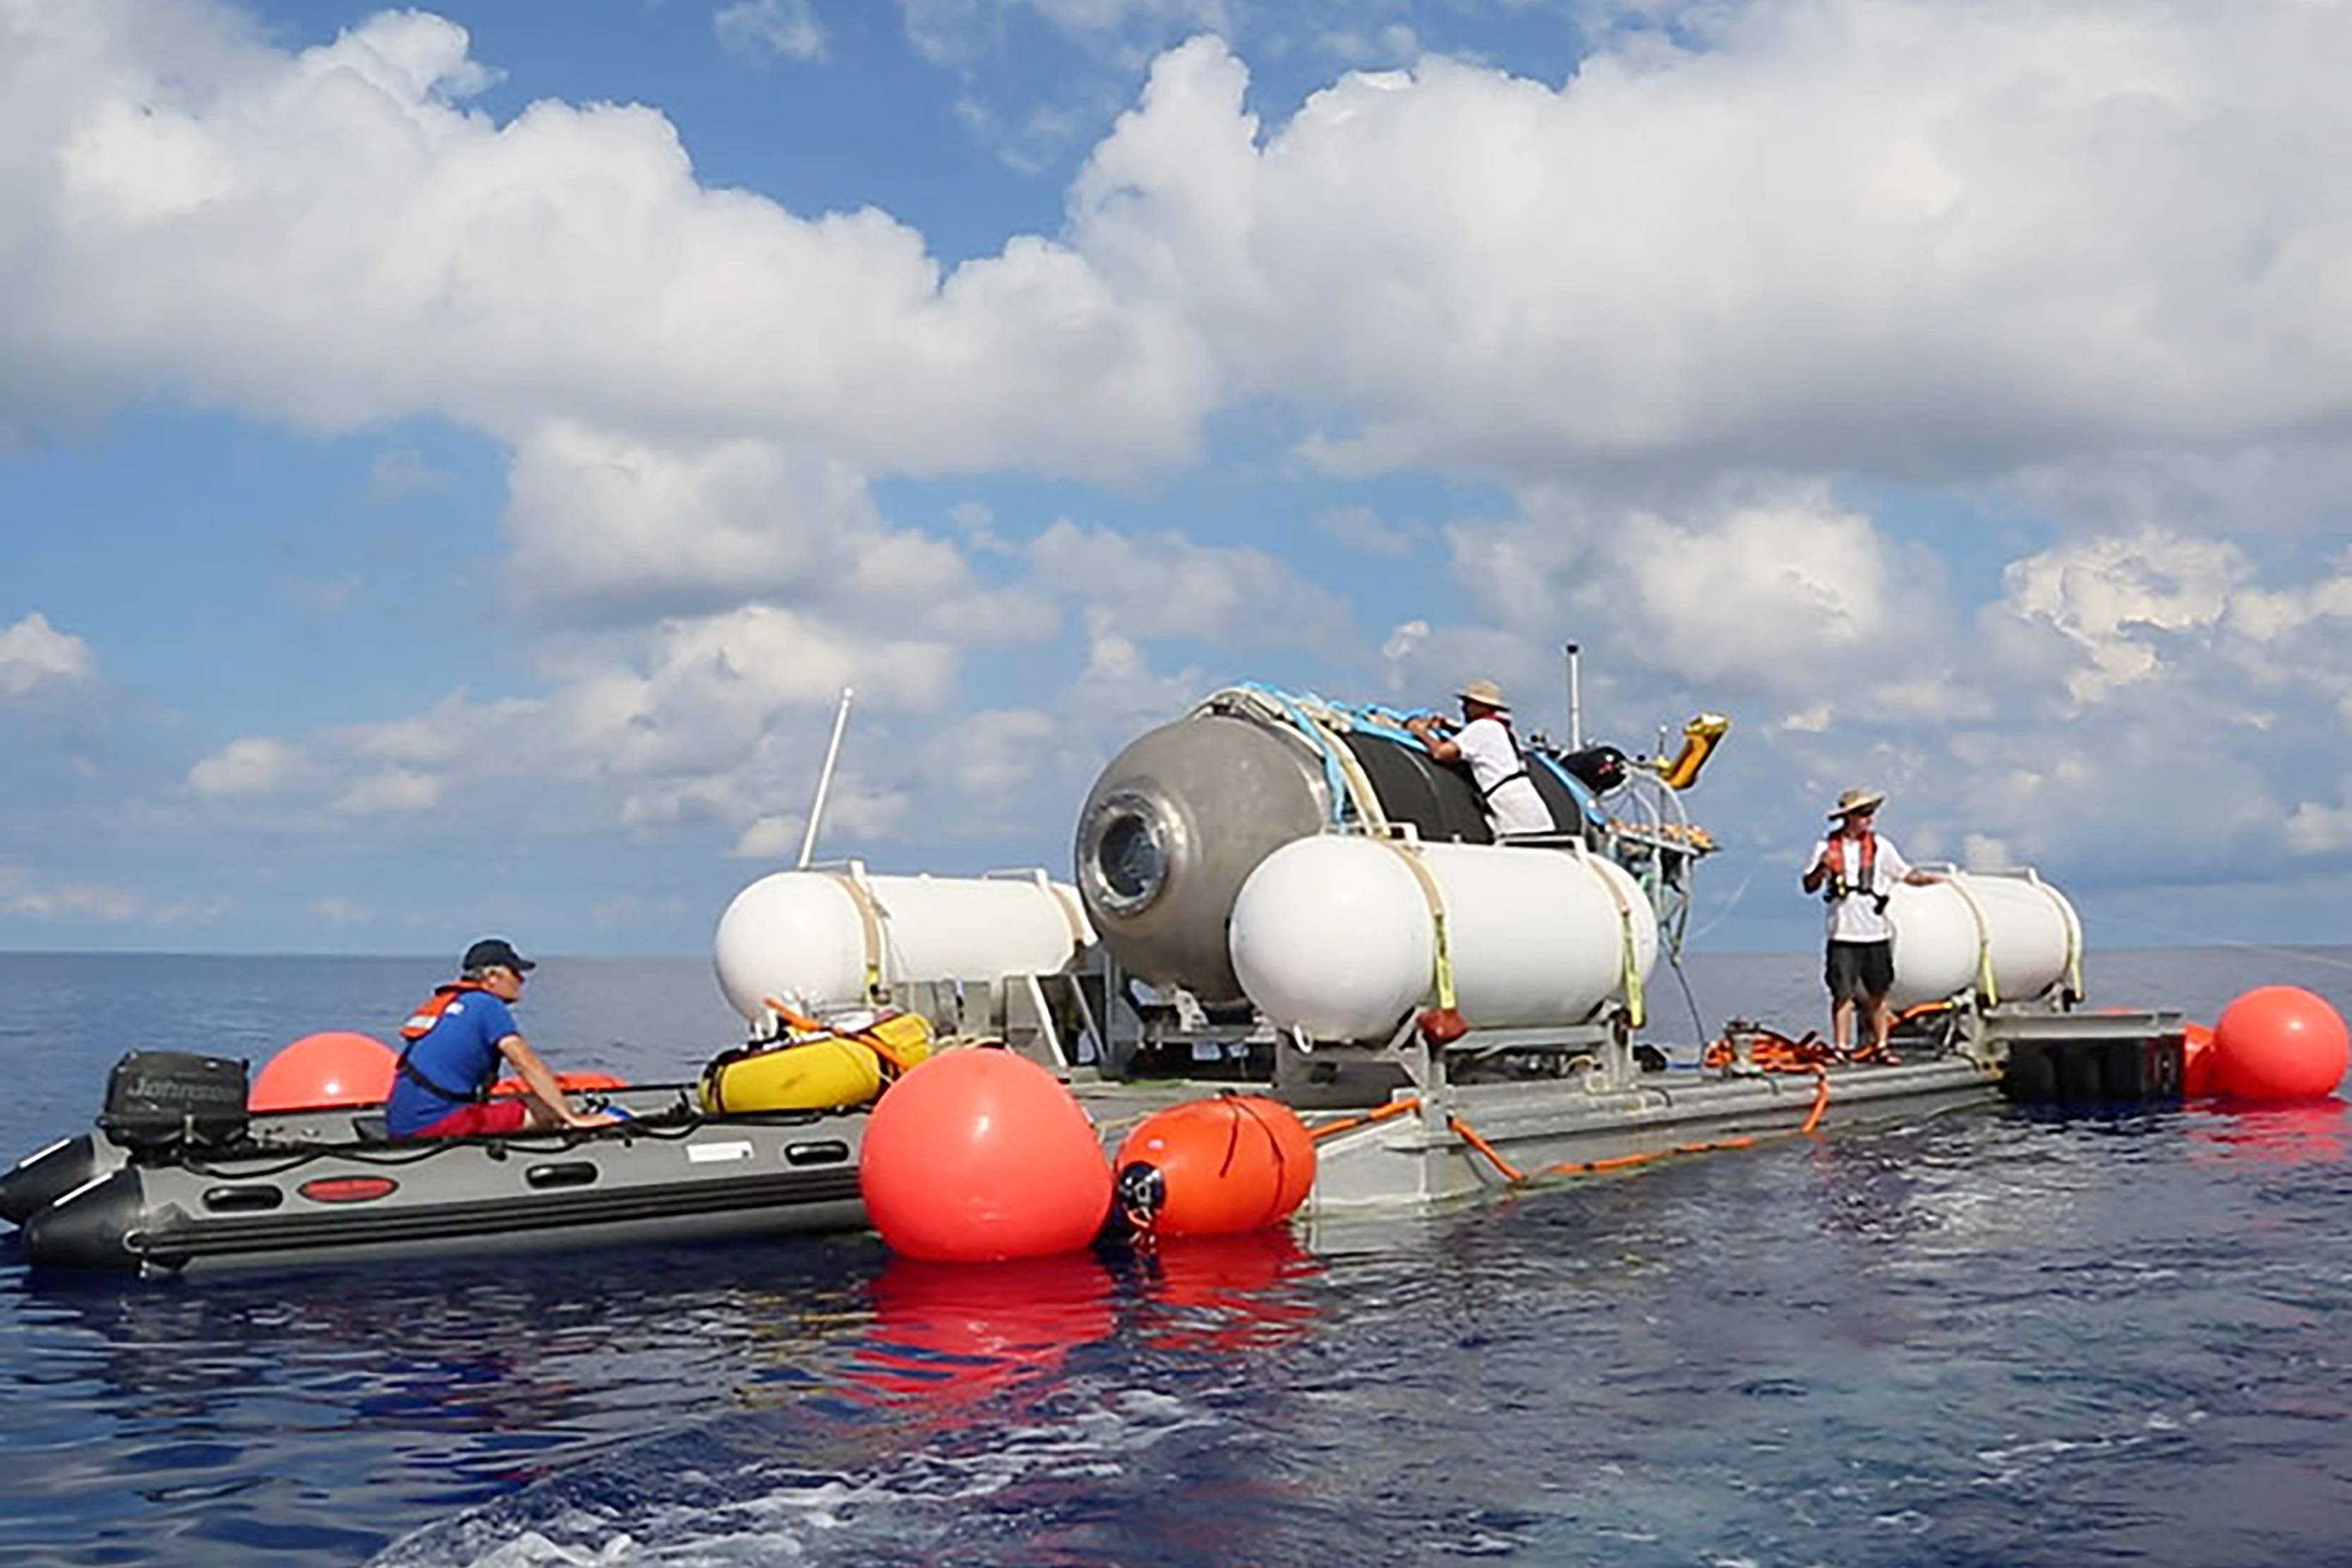
[[894,1253],[1044,1258],[1101,1234],[1110,1166],[1051,1072],[1011,1051],[946,1051],[882,1091],[866,1119],[858,1192]]

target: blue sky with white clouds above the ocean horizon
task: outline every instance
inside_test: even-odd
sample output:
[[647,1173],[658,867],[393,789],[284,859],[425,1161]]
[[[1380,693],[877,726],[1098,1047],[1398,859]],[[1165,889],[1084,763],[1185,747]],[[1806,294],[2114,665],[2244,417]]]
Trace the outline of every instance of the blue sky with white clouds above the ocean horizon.
[[1240,679],[2352,940],[2347,0],[0,0],[0,947],[1070,875]]

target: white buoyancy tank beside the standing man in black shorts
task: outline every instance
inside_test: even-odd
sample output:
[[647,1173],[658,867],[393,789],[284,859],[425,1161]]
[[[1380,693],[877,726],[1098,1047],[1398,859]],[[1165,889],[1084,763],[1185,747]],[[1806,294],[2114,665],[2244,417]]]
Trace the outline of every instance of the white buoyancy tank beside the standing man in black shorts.
[[[1947,872],[1929,886],[1896,886],[1898,1009],[1973,990],[1985,1001],[2032,1001],[2079,985],[2082,922],[2065,893],[2032,872]],[[1990,985],[1987,985],[1990,983]]]

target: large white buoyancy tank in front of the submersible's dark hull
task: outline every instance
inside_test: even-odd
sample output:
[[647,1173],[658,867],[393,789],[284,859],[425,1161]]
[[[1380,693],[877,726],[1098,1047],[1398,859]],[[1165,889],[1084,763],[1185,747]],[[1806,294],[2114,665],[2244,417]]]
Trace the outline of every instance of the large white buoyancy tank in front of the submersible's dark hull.
[[1599,856],[1324,835],[1284,844],[1242,884],[1232,971],[1279,1027],[1388,1039],[1437,999],[1432,896],[1472,1030],[1583,1023],[1658,961],[1658,917]]

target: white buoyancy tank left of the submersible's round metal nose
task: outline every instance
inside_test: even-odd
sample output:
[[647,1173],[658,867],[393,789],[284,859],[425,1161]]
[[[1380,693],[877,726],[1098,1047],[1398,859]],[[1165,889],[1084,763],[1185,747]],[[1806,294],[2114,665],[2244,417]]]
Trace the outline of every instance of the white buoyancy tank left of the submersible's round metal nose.
[[870,877],[863,865],[762,877],[720,914],[713,966],[750,1023],[776,997],[861,1006],[908,980],[1061,973],[1094,940],[1077,889],[1023,877]]

